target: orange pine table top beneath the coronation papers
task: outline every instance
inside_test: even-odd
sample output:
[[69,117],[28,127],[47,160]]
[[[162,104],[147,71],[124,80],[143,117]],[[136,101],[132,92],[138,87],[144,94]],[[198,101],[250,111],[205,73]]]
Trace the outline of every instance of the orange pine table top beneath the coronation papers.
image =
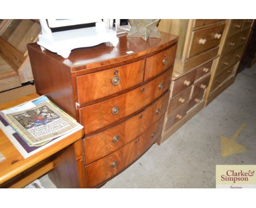
[[[35,93],[3,103],[0,105],[0,110],[19,105],[22,102],[32,100],[36,97],[39,97],[39,95]],[[74,142],[77,142],[77,140],[83,138],[83,136],[84,130],[82,129],[25,159],[10,142],[8,137],[5,136],[3,131],[0,130],[0,152],[5,157],[5,160],[0,162],[0,184],[33,167]]]

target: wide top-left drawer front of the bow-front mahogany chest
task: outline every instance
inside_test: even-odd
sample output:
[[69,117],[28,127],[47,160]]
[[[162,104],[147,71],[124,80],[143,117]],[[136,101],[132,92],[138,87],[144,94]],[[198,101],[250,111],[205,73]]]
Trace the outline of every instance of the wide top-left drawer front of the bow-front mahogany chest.
[[77,77],[80,104],[133,87],[143,81],[144,60]]

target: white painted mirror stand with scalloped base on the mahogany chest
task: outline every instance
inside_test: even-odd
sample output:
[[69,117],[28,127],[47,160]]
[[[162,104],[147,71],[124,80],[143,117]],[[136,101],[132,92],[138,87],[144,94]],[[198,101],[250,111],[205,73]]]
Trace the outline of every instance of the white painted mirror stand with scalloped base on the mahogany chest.
[[42,34],[39,35],[41,49],[56,52],[63,58],[68,58],[71,50],[80,47],[91,47],[102,42],[110,42],[114,47],[118,44],[117,32],[105,27],[101,20],[48,20],[50,27],[79,25],[96,22],[96,27],[71,29],[61,32],[51,32],[45,19],[40,19]]

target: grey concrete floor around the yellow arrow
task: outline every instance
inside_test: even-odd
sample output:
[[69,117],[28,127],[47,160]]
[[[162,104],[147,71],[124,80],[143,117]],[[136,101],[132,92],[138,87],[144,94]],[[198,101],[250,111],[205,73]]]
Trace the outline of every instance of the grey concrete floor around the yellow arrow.
[[[216,164],[256,164],[255,74],[256,64],[243,70],[210,105],[102,188],[214,188]],[[236,142],[247,150],[222,157],[220,136],[230,138],[243,123]],[[55,187],[47,175],[39,180]]]

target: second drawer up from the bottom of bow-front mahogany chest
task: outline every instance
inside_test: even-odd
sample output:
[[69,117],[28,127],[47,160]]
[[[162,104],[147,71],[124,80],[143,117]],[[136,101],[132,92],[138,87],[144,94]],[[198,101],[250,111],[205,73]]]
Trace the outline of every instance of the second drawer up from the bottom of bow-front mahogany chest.
[[159,100],[124,123],[83,139],[85,164],[118,150],[152,126],[165,113],[168,96],[166,92]]

